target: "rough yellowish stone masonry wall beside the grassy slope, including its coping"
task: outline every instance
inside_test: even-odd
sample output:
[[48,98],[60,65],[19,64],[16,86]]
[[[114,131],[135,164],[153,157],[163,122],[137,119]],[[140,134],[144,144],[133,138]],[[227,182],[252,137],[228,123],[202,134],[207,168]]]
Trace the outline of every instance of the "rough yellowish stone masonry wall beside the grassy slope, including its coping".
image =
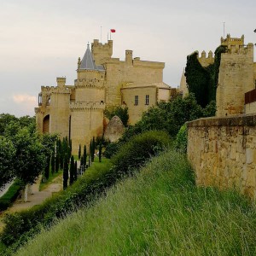
[[256,198],[256,115],[188,123],[188,158],[196,183]]

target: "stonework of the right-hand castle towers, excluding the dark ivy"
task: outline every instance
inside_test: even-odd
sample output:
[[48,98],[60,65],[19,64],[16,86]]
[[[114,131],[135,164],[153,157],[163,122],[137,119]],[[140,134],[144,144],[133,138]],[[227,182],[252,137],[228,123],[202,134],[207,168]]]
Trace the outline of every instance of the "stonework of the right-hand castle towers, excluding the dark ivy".
[[[244,44],[241,38],[220,39],[227,51],[221,55],[216,92],[217,117],[237,114],[256,113],[256,63],[253,62],[253,44]],[[201,53],[198,58],[202,67],[214,62],[212,51],[206,56]],[[188,84],[184,73],[180,82],[183,95],[188,94]]]

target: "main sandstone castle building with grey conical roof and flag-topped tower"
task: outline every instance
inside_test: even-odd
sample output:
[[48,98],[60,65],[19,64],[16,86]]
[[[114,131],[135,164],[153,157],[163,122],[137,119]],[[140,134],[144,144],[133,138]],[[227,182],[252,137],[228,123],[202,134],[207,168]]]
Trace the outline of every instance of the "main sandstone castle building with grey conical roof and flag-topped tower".
[[133,58],[128,49],[125,61],[112,55],[112,40],[102,44],[95,39],[78,60],[74,85],[57,78],[56,86],[41,86],[35,108],[38,131],[69,137],[73,154],[79,144],[89,145],[92,137],[102,136],[106,108],[127,107],[133,125],[149,107],[169,101],[175,93],[163,83],[165,63]]

